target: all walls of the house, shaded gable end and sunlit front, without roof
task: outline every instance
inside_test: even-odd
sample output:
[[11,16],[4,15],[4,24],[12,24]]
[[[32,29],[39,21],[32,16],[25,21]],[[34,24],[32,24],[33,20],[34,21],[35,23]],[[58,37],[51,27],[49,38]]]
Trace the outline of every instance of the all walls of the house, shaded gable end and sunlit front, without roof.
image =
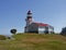
[[38,33],[38,34],[51,34],[54,32],[54,27],[52,26],[38,26],[34,23],[26,26],[25,28],[26,33]]

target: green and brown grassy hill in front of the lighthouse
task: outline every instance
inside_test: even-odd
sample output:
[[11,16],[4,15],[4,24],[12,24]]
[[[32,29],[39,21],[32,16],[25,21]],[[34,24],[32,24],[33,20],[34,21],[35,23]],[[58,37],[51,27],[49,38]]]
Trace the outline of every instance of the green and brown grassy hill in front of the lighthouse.
[[0,50],[66,50],[61,35],[18,34],[14,40],[0,40]]

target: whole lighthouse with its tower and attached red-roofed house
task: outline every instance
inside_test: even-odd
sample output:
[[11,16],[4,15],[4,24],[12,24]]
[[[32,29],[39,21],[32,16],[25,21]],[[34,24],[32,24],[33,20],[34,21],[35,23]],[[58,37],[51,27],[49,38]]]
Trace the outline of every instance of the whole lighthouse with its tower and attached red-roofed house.
[[32,12],[29,10],[25,18],[24,33],[35,33],[35,34],[51,34],[54,32],[54,27],[45,24],[33,22]]

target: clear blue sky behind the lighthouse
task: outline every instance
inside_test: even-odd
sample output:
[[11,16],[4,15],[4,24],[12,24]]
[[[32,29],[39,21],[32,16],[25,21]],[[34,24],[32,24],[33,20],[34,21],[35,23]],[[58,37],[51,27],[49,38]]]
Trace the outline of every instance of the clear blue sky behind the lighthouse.
[[66,26],[66,0],[0,0],[0,35],[10,35],[12,28],[23,33],[29,10],[34,22],[54,26],[55,33]]

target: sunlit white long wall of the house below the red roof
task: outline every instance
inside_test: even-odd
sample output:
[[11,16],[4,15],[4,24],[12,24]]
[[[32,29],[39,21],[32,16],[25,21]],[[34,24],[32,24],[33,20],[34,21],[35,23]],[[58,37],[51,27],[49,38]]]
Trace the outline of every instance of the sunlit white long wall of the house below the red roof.
[[54,28],[52,26],[38,26],[38,34],[52,34]]

